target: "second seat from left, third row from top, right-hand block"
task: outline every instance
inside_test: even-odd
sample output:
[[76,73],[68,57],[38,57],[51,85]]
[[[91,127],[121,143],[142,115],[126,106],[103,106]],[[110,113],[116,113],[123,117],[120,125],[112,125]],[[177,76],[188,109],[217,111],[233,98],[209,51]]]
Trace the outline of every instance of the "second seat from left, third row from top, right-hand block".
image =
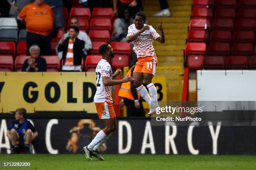
[[234,23],[232,19],[228,18],[216,18],[213,20],[212,23],[213,30],[223,30],[223,31],[233,31],[234,30]]

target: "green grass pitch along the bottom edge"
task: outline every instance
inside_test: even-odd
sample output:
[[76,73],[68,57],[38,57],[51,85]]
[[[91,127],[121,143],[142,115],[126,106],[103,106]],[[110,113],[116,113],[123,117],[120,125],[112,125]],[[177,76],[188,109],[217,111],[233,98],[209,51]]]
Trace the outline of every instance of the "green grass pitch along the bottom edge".
[[[106,155],[105,161],[82,154],[1,154],[0,169],[6,170],[253,170],[254,155]],[[4,162],[30,162],[31,167],[3,167]]]

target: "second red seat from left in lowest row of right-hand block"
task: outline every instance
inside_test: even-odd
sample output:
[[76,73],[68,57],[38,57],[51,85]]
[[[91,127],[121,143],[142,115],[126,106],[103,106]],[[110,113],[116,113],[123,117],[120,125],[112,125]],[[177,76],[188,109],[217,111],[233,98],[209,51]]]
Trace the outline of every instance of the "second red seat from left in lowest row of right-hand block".
[[225,69],[225,56],[207,56],[204,57],[204,69],[220,70]]

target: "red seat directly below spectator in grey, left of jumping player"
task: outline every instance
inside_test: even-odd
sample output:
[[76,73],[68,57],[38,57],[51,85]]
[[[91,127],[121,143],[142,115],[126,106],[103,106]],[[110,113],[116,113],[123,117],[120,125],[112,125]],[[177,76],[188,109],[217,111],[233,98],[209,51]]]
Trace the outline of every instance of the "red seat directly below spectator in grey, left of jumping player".
[[131,45],[129,42],[111,42],[115,54],[128,54],[131,56]]

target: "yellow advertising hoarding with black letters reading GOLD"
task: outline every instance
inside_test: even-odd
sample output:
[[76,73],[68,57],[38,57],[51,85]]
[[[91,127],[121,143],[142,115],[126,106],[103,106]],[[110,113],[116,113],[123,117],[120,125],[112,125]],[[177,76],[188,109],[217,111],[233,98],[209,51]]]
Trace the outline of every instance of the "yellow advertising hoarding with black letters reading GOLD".
[[95,92],[95,72],[0,72],[0,108],[5,113],[18,107],[95,113]]

